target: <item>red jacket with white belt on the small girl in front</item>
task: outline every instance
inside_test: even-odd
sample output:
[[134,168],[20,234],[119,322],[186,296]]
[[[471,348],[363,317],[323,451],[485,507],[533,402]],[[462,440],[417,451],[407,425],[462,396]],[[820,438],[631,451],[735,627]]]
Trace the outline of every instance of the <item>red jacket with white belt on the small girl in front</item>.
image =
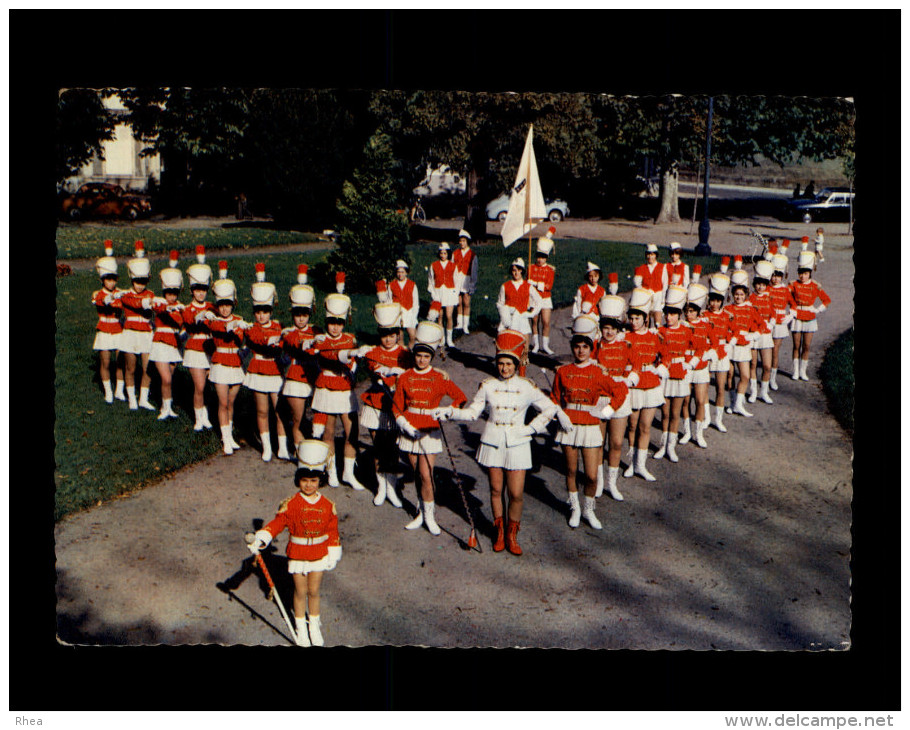
[[[316,497],[310,502],[303,492],[297,492],[281,503],[275,519],[262,528],[273,538],[287,529],[292,539],[286,552],[291,560],[320,560],[329,554],[330,547],[341,545],[335,503],[320,492]],[[293,538],[310,544],[296,543]]]

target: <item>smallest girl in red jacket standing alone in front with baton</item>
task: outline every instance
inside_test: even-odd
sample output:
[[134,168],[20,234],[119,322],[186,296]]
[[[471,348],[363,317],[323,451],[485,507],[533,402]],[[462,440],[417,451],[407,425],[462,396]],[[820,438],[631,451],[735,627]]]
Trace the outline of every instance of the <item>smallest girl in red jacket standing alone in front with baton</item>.
[[284,500],[278,514],[256,532],[250,544],[254,555],[285,529],[288,537],[288,572],[294,579],[294,619],[298,646],[323,646],[322,575],[341,560],[341,538],[335,504],[319,488],[326,482],[329,447],[307,439],[297,449],[294,486],[300,490]]

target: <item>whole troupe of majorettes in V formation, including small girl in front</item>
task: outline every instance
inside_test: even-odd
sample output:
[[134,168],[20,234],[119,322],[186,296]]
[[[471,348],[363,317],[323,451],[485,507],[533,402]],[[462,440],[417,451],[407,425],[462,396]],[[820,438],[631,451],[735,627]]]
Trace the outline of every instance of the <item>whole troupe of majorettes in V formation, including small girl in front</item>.
[[[320,490],[341,483],[365,490],[354,473],[361,426],[373,445],[370,463],[361,467],[376,474],[374,505],[403,506],[399,473],[405,461],[414,477],[417,514],[404,528],[426,527],[439,535],[433,470],[445,446],[443,423],[476,421],[486,414],[475,458],[488,475],[493,550],[521,555],[518,532],[531,449],[551,422],[565,458],[568,525],[576,528],[584,519],[601,529],[595,508],[603,491],[623,500],[618,476],[624,444],[623,476],[649,482],[656,481],[648,470],[649,455],[678,463],[680,446],[693,442],[708,448],[709,427],[727,431],[725,415],[750,418],[747,403],[773,403],[770,391],[778,389],[780,349],[787,338],[793,345],[792,378],[809,379],[817,314],[831,299],[812,278],[816,254],[808,250],[808,238],[798,253],[797,278],[789,283],[789,241],[779,247],[772,243],[751,276],[739,256],[732,262],[724,257],[720,270],[710,275],[698,265],[690,270],[681,261],[679,244],[671,243],[669,263],[658,262],[657,246],[646,247],[646,262],[635,270],[628,298],[619,295],[615,272],[607,275],[605,289],[600,267],[588,262],[572,305],[571,362],[556,367],[552,381],[544,370],[549,392],[541,390],[526,372],[530,353],[555,354],[550,319],[556,270],[549,263],[554,233],[551,228],[538,239],[533,264],[512,261],[496,300],[497,375],[481,382],[471,398],[433,365],[440,347],[454,346],[454,329],[469,332],[478,258],[466,231],[459,232],[451,257],[448,244],[439,246],[428,272],[431,302],[425,319],[419,317],[419,288],[405,261],[395,263],[393,279],[376,282],[375,346],[358,345],[345,331],[351,299],[344,293],[343,272],[336,274],[336,291],[324,298],[323,331],[311,321],[315,291],[301,264],[288,294],[292,324],[282,327],[272,319],[277,292],[264,264],[255,266],[249,293],[253,321],[247,322],[234,311],[238,292],[227,263],[219,262],[214,278],[201,246],[185,272],[190,297],[183,303],[184,272],[176,252],[160,272],[161,295],[156,296],[148,288],[150,266],[142,242],[136,242],[127,262],[128,289],[118,288],[117,261],[111,242],[105,242],[106,255],[96,264],[101,288],[92,295],[98,314],[94,350],[105,400],[125,400],[131,410],[156,410],[149,401],[149,363],[154,362],[161,387],[158,419],[175,417],[172,382],[180,365],[193,383],[194,430],[213,428],[205,405],[210,382],[223,452],[229,456],[239,449],[234,403],[244,387],[255,399],[262,460],[277,456],[298,466],[298,492],[249,544],[258,554],[282,530],[290,532],[298,644],[322,643],[319,586],[322,572],[340,559],[341,543],[334,504]],[[358,368],[369,374],[359,396]],[[658,411],[659,445],[650,454]],[[338,421],[344,433],[340,479]],[[276,430],[274,454],[270,423]]]

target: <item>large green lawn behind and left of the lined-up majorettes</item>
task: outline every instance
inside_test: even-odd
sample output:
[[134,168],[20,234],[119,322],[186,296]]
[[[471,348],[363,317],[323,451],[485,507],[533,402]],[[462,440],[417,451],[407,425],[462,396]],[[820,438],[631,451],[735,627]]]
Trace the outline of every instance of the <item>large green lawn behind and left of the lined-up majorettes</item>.
[[[186,232],[190,233],[190,232]],[[218,231],[231,239],[233,231]],[[179,237],[177,234],[176,237]],[[148,243],[149,239],[146,239]],[[299,240],[299,234],[298,234]],[[210,239],[206,244],[214,249],[225,246],[221,238]],[[426,291],[426,267],[436,259],[436,244],[412,245],[408,252],[412,260],[412,277],[420,290],[422,314],[429,306]],[[500,245],[475,248],[480,259],[478,295],[472,303],[474,329],[495,331],[498,315],[496,297],[499,286],[507,279],[511,262],[521,256],[526,258],[526,241],[519,241],[509,249]],[[266,278],[278,290],[274,318],[283,326],[291,323],[288,290],[296,283],[297,265],[310,266],[323,261],[327,251],[306,254],[265,254],[261,257],[238,256],[228,261],[228,272],[238,289],[237,313],[252,319],[249,298],[250,284],[254,279],[254,265],[262,261]],[[93,254],[94,255],[94,254]],[[220,255],[219,258],[222,256]],[[663,253],[661,259],[667,259]],[[575,291],[583,280],[587,261],[594,261],[606,274],[616,271],[620,290],[632,287],[634,268],[643,260],[642,248],[636,244],[610,241],[557,241],[551,257],[556,266],[554,304],[565,306],[572,302]],[[696,258],[689,255],[690,263],[701,263],[705,272],[714,271],[719,257]],[[215,260],[211,260],[213,267]],[[158,272],[163,261],[152,262],[152,286],[159,282]],[[123,282],[126,285],[126,282]],[[96,315],[89,304],[91,293],[98,288],[94,272],[76,271],[57,280],[56,360],[55,360],[55,519],[94,506],[106,500],[141,489],[164,476],[201,459],[217,454],[221,444],[217,429],[195,432],[192,413],[192,384],[186,371],[179,367],[174,375],[174,406],[177,419],[158,421],[152,411],[129,411],[126,404],[104,402],[97,375],[97,355],[92,351]],[[327,292],[317,291],[316,301],[321,303]],[[487,298],[484,298],[484,294]],[[186,292],[181,301],[186,301]],[[376,298],[372,293],[351,294],[351,319],[348,330],[360,342],[375,344],[376,326],[372,307]],[[314,323],[322,325],[324,310],[314,310]],[[157,375],[152,375],[151,400],[160,404]],[[214,416],[214,392],[207,394],[210,418]],[[212,419],[215,422],[215,419]],[[241,388],[235,404],[235,430],[243,440],[258,443],[255,434],[255,406],[251,394]]]

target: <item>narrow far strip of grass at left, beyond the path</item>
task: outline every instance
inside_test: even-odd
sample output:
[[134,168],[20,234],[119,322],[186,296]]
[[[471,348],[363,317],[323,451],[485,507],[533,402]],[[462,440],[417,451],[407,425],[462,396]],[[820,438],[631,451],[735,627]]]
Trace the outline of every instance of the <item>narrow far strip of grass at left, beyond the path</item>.
[[[165,227],[83,226],[61,223],[57,226],[57,259],[97,258],[104,255],[104,241],[114,244],[114,255],[130,257],[141,239],[149,253],[177,251],[195,255],[196,246],[206,252],[247,250],[260,246],[314,243],[321,240],[312,233],[272,231],[262,228],[192,228],[175,230]],[[209,256],[211,258],[211,256]]]

